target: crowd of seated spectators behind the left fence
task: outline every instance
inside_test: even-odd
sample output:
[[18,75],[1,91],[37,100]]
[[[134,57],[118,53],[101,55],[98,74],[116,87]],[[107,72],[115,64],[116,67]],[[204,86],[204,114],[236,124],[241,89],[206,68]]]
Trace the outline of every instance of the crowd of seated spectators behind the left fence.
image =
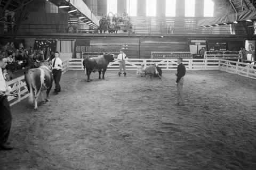
[[7,59],[7,65],[3,70],[4,78],[9,81],[13,78],[13,72],[26,67],[37,67],[37,61],[52,60],[54,53],[50,47],[33,49],[31,46],[25,48],[22,43],[15,47],[14,43],[0,44],[0,55]]

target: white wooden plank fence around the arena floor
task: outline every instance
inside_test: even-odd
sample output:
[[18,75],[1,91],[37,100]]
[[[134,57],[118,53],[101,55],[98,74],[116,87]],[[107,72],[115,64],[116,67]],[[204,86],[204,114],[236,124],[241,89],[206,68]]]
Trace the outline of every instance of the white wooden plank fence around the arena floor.
[[[62,63],[62,73],[65,73],[68,70],[84,70],[83,68],[83,59],[69,59]],[[127,70],[137,70],[137,67],[143,63],[146,66],[156,63],[157,66],[161,67],[162,70],[177,70],[177,59],[131,59],[131,61],[126,62]],[[242,75],[244,77],[256,79],[256,65],[235,62],[230,60],[222,59],[183,59],[182,62],[187,70],[220,70],[228,73],[235,73]],[[108,65],[108,70],[119,70],[119,63],[117,61],[110,62]],[[18,94],[18,97],[9,96],[8,100],[10,105],[14,105],[25,99],[29,93],[24,80],[24,75],[7,82],[9,86],[12,87],[12,90]]]

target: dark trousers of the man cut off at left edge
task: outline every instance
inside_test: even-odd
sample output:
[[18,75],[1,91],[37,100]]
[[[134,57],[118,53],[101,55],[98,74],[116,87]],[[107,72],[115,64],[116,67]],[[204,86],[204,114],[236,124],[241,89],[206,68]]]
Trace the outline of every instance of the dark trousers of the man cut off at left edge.
[[0,145],[7,142],[10,134],[12,115],[6,96],[0,96]]

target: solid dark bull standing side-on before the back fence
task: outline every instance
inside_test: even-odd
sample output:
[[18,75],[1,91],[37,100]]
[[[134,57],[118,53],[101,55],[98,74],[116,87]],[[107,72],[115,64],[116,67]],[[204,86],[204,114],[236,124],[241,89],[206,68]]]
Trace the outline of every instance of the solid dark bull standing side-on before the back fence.
[[98,57],[85,58],[83,61],[84,69],[87,74],[87,81],[90,82],[91,73],[98,71],[99,79],[101,79],[100,74],[102,72],[102,79],[105,79],[105,72],[109,62],[114,61],[114,54],[103,54]]

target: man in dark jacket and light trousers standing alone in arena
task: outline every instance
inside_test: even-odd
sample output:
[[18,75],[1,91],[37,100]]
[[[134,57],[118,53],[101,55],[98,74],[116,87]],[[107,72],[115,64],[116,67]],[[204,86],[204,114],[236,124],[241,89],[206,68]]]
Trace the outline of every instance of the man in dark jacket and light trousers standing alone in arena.
[[184,76],[186,73],[186,67],[182,64],[182,58],[178,58],[177,63],[178,68],[177,68],[177,73],[176,73],[176,82],[175,84],[177,85],[177,92],[178,92],[178,103],[176,103],[179,106],[185,106],[185,101],[184,101],[184,93],[183,93],[183,82],[184,82]]

